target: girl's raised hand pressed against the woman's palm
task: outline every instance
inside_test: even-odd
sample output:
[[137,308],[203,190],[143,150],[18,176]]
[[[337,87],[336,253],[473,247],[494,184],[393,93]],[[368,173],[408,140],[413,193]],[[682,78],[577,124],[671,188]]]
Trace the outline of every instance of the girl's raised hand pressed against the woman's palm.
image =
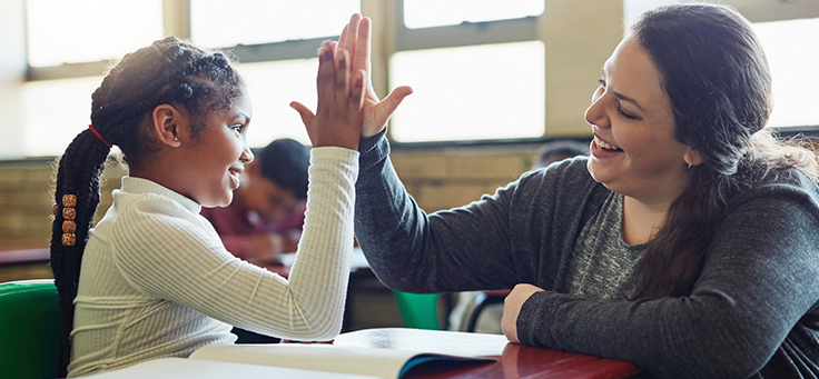
[[363,70],[351,71],[349,53],[345,50],[334,51],[334,44],[325,41],[318,49],[316,113],[297,101],[290,102],[290,107],[302,116],[313,147],[335,146],[357,150],[367,77]]

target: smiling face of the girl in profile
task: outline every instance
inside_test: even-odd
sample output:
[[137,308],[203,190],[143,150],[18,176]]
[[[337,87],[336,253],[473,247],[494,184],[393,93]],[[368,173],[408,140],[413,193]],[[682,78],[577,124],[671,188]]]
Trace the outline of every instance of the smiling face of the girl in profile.
[[226,110],[215,110],[205,119],[205,131],[190,143],[185,154],[184,188],[180,192],[203,207],[226,207],[239,188],[245,163],[253,161],[247,147],[247,128],[253,104],[247,91],[233,99]]

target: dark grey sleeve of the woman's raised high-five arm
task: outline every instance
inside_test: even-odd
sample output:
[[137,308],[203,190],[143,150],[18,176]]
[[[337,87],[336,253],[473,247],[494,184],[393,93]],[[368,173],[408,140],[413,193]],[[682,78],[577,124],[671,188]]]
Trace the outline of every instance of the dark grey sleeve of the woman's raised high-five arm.
[[407,292],[511,288],[507,192],[427,215],[406,192],[383,134],[361,143],[356,238],[378,279]]

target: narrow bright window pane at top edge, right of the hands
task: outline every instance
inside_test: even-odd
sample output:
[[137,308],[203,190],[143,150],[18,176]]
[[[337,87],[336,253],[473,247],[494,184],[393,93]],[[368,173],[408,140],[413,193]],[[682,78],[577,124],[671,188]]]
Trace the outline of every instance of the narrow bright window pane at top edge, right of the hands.
[[543,0],[404,0],[404,24],[411,29],[520,19],[543,13]]

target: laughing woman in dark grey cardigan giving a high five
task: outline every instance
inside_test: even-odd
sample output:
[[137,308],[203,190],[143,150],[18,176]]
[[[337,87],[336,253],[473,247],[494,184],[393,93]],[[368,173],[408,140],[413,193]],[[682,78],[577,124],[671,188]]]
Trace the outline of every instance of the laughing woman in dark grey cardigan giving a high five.
[[770,93],[734,10],[651,10],[603,66],[590,158],[432,215],[395,174],[369,93],[356,237],[396,290],[513,288],[513,342],[658,377],[819,376],[817,158],[763,129]]

